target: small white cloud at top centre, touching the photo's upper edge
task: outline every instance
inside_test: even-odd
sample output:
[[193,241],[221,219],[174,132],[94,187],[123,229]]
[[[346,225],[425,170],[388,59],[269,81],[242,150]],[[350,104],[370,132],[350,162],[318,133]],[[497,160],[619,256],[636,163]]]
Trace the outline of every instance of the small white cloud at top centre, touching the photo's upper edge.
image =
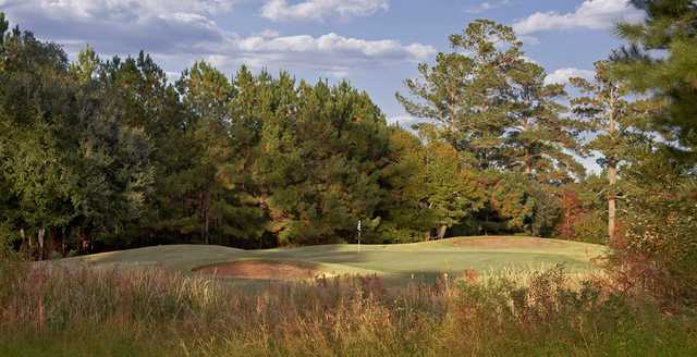
[[387,11],[389,5],[389,0],[305,0],[295,4],[288,0],[269,0],[261,8],[261,16],[272,21],[350,19]]

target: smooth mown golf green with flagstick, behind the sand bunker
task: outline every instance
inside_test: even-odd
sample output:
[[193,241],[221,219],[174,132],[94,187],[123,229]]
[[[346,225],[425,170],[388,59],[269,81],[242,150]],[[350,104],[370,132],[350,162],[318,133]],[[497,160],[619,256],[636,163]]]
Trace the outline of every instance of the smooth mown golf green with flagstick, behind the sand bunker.
[[599,245],[530,237],[461,237],[402,245],[323,245],[302,248],[241,250],[220,246],[173,245],[98,254],[63,263],[96,267],[162,266],[184,272],[222,262],[270,260],[315,266],[330,274],[379,274],[384,278],[432,280],[440,273],[543,270],[564,264],[588,272]]

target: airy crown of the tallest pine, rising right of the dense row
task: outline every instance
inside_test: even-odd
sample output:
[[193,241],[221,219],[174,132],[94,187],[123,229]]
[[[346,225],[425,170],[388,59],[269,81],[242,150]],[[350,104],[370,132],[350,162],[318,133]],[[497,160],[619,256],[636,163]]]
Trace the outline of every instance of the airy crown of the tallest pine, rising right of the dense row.
[[508,116],[505,74],[522,56],[513,29],[487,20],[450,37],[450,53],[436,65],[419,65],[420,78],[407,79],[411,98],[398,100],[412,115],[433,120],[442,136],[479,169],[501,165]]

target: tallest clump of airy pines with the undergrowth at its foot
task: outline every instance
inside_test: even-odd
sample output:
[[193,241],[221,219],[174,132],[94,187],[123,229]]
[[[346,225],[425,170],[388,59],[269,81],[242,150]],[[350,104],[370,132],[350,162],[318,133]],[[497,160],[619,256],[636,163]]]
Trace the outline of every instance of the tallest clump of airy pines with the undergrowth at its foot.
[[524,58],[508,26],[478,20],[450,40],[450,53],[405,82],[411,96],[396,95],[408,113],[435,123],[420,125],[430,133],[425,141],[457,150],[466,185],[477,193],[448,226],[550,236],[561,214],[552,187],[585,174],[572,155],[583,126],[562,115],[563,86],[545,84],[545,70]]

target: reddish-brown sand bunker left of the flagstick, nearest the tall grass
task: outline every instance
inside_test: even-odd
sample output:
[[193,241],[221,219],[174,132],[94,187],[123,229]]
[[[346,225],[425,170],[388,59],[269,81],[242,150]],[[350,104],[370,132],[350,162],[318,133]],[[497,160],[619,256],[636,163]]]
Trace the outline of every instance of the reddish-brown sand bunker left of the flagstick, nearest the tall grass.
[[317,269],[276,261],[233,261],[193,270],[199,274],[258,280],[313,279],[326,275]]

